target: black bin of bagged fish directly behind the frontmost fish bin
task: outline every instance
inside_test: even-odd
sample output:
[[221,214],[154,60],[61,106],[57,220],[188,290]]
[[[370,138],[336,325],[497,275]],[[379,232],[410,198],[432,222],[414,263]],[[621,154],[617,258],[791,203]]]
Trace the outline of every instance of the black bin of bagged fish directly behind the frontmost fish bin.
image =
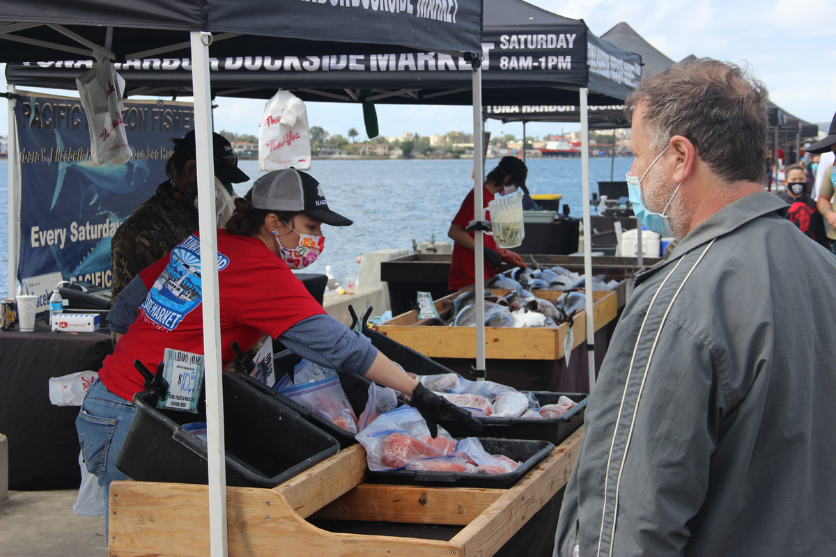
[[[524,392],[524,391],[523,391]],[[482,435],[507,439],[540,439],[559,445],[584,425],[584,413],[589,395],[581,392],[539,392],[533,391],[540,406],[557,404],[558,398],[569,397],[578,403],[560,418],[493,418],[477,417],[482,423]],[[472,429],[461,422],[439,422],[453,437],[472,435]]]

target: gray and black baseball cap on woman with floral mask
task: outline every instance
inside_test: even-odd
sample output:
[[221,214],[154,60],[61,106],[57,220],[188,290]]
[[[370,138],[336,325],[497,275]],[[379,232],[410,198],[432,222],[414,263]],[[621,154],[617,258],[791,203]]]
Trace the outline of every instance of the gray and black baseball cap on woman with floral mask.
[[328,208],[322,186],[314,176],[296,169],[273,170],[252,185],[256,209],[298,211],[331,226],[349,226],[354,221]]

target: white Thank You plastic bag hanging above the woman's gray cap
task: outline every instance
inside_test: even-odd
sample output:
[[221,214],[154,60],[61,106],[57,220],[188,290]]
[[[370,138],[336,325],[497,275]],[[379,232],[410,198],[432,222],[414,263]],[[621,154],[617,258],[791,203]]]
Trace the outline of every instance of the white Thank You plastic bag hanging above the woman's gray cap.
[[258,123],[258,170],[311,167],[308,109],[293,93],[278,90],[264,106]]

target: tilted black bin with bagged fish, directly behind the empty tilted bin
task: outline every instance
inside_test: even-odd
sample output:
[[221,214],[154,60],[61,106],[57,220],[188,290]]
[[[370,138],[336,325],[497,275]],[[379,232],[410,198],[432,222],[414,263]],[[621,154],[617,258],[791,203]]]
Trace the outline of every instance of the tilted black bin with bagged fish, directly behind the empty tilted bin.
[[[298,364],[301,360],[301,357],[298,357],[293,354],[293,352],[287,350],[274,354],[273,370],[277,380],[284,377],[285,373],[293,371],[293,366]],[[237,377],[240,377],[242,381],[249,383],[252,387],[255,387],[268,396],[275,398],[288,408],[291,408],[294,412],[298,413],[309,423],[314,424],[317,428],[328,433],[331,437],[337,440],[340,448],[347,448],[354,443],[357,443],[357,440],[354,438],[354,433],[347,432],[343,428],[334,425],[334,423],[330,423],[327,419],[323,418],[318,413],[315,413],[313,410],[308,410],[308,408],[305,408],[301,404],[284,396],[281,392],[275,391],[272,386],[258,381],[255,377],[243,374],[236,375]],[[349,398],[351,408],[354,409],[354,415],[359,418],[359,415],[363,413],[365,409],[366,403],[369,402],[369,385],[371,382],[365,377],[352,375],[351,373],[337,372],[337,376],[339,377],[340,384],[343,386],[343,391]]]

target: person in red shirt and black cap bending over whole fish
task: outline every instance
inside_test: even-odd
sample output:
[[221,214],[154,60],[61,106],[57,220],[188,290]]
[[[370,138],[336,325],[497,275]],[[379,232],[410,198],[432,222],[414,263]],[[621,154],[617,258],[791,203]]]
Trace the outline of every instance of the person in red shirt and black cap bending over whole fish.
[[[516,157],[502,157],[497,168],[491,170],[482,185],[482,206],[487,207],[489,201],[493,200],[497,193],[511,190],[512,193],[517,187],[525,187],[525,179],[528,169],[522,160]],[[471,220],[476,220],[473,215],[474,190],[470,190],[465,200],[461,202],[461,208],[450,225],[447,235],[450,236],[453,244],[453,257],[450,264],[450,277],[447,287],[451,291],[459,290],[465,286],[471,286],[476,282],[476,255],[473,248],[476,241],[473,240],[473,232],[465,230]],[[479,216],[482,218],[482,215]],[[493,236],[484,235],[485,238],[485,278],[497,275],[502,261],[512,265],[526,268],[523,258],[513,251],[497,247]]]

